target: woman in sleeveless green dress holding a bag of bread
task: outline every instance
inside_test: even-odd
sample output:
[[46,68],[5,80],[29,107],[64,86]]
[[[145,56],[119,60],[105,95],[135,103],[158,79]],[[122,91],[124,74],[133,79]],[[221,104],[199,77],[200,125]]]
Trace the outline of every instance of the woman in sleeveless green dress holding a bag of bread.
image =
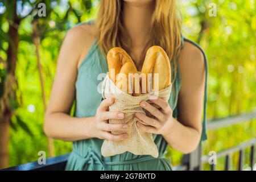
[[[108,123],[108,119],[122,119],[123,113],[108,111],[113,98],[101,101],[97,92],[102,81],[97,76],[108,72],[106,53],[112,47],[122,47],[141,71],[146,50],[153,45],[162,47],[170,57],[174,73],[172,93],[168,102],[154,100],[161,110],[141,102],[156,119],[137,115],[149,125],[138,123],[137,127],[153,134],[159,158],[130,152],[105,158],[101,155],[104,139],[117,141],[127,137],[110,133],[127,128],[125,124]],[[168,144],[187,154],[206,139],[206,81],[204,52],[181,36],[174,0],[101,1],[95,23],[80,24],[65,36],[44,131],[48,137],[73,141],[67,170],[171,170],[164,158]],[[74,100],[72,117],[69,112]]]

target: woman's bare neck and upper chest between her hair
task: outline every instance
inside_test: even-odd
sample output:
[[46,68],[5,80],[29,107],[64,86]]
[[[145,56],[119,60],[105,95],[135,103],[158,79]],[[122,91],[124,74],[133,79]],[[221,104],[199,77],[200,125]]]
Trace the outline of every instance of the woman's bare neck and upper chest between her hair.
[[134,5],[123,1],[123,23],[131,38],[133,47],[143,47],[149,39],[151,17],[155,1],[145,5]]

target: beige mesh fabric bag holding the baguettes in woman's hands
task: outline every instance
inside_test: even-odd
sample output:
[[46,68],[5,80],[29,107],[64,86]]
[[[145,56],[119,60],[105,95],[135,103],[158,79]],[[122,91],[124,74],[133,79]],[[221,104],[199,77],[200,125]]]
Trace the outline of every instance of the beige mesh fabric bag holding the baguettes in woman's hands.
[[[103,156],[113,156],[129,151],[135,155],[151,155],[154,158],[157,158],[159,152],[156,144],[154,143],[152,134],[138,130],[136,126],[137,121],[140,121],[143,124],[146,123],[139,120],[135,116],[135,113],[144,113],[148,117],[152,118],[153,116],[144,110],[139,103],[143,100],[147,100],[150,95],[158,96],[167,101],[170,98],[171,86],[172,85],[168,86],[166,89],[160,90],[159,92],[146,93],[135,97],[119,90],[107,75],[102,82],[102,97],[105,99],[113,96],[114,104],[109,106],[109,111],[121,111],[125,115],[123,119],[109,119],[109,123],[127,123],[129,126],[128,131],[119,130],[112,132],[112,134],[119,135],[127,132],[129,137],[117,142],[104,140],[101,146],[101,154]],[[150,101],[147,102],[152,104]],[[159,108],[159,106],[155,104],[153,105]]]

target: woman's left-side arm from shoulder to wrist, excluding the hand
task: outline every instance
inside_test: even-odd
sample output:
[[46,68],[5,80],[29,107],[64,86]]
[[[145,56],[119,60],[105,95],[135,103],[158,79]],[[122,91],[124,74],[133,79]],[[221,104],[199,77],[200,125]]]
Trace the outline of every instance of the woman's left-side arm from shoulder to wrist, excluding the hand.
[[[78,41],[80,27],[72,28],[65,36],[57,61],[51,98],[44,118],[44,131],[48,137],[62,140],[79,140],[90,137],[89,123],[93,118],[69,116],[75,98],[77,64],[82,53]],[[87,123],[87,125],[86,125]]]

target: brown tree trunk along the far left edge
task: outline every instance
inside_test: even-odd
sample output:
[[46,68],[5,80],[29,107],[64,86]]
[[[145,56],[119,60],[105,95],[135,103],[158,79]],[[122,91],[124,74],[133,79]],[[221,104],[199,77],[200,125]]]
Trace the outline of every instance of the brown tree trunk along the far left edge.
[[0,168],[9,166],[9,133],[11,116],[14,108],[10,105],[10,100],[15,100],[15,67],[17,61],[17,50],[19,44],[19,24],[20,19],[16,15],[16,1],[13,3],[14,20],[9,24],[8,35],[11,39],[7,49],[7,75],[5,77],[4,93],[1,98],[1,113],[0,113]]

